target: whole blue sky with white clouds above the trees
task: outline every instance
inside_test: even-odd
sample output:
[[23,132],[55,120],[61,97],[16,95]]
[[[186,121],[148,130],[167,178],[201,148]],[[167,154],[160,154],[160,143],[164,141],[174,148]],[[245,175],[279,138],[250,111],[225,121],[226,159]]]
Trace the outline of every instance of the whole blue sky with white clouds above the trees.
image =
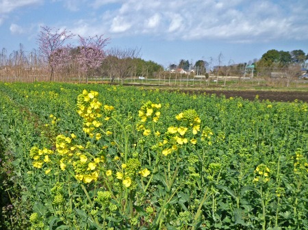
[[[240,63],[270,49],[308,53],[308,0],[0,0],[0,48],[38,48],[40,27],[104,35],[163,66]],[[74,43],[77,40],[72,40]]]

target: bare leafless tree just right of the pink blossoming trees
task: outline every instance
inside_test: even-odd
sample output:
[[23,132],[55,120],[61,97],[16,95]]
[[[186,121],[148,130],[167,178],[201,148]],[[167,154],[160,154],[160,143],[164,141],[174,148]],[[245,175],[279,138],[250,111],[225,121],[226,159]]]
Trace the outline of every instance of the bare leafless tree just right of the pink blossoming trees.
[[103,62],[110,81],[113,82],[115,78],[119,78],[123,84],[124,80],[133,73],[135,67],[133,59],[139,57],[139,48],[111,48],[107,51],[107,57]]

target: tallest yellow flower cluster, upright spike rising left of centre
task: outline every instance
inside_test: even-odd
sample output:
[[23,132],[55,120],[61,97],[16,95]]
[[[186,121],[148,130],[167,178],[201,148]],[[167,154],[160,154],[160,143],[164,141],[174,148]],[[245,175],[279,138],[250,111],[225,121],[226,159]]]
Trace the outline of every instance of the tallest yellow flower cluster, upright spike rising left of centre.
[[97,91],[82,91],[77,97],[77,113],[84,119],[84,132],[90,137],[94,136],[95,128],[99,128],[102,124],[97,121],[101,117],[101,102],[97,99],[99,93]]

